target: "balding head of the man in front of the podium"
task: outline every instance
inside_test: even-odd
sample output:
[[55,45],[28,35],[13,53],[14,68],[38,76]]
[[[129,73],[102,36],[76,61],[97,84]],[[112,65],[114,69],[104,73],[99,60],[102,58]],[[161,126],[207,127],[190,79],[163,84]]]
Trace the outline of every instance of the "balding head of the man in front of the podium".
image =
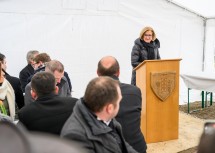
[[99,76],[119,76],[119,63],[113,56],[105,56],[103,57],[99,63],[97,68],[97,74]]

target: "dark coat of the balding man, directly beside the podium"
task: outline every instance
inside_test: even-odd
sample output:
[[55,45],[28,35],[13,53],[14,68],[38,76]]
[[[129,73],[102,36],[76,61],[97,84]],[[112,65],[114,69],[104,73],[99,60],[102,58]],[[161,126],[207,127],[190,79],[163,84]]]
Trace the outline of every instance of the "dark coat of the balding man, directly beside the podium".
[[[119,80],[116,76],[112,77]],[[116,120],[122,126],[125,140],[138,152],[145,153],[147,146],[140,129],[142,97],[138,87],[120,83],[122,100]]]

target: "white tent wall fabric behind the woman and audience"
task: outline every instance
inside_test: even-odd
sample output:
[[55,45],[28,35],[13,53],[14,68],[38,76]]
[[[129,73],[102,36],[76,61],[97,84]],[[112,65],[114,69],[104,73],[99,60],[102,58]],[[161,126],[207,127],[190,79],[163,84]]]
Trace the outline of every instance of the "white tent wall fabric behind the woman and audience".
[[[162,59],[182,58],[183,73],[202,71],[204,64],[214,71],[215,21],[206,24],[203,63],[205,19],[166,0],[2,0],[0,21],[0,52],[10,74],[18,76],[27,51],[46,52],[65,65],[77,98],[105,55],[118,59],[120,80],[130,83],[133,42],[148,25],[161,42]],[[180,80],[180,103],[186,94]]]

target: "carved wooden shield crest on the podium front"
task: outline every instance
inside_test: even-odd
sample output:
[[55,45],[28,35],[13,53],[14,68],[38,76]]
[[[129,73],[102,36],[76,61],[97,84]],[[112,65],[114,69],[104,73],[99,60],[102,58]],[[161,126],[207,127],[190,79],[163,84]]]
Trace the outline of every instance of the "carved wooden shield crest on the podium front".
[[151,88],[155,95],[165,101],[175,89],[176,72],[151,72]]

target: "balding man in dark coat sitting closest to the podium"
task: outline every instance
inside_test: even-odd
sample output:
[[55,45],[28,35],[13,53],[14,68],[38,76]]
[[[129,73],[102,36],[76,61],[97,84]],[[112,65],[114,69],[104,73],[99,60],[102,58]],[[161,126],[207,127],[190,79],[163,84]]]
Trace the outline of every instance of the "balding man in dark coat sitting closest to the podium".
[[[99,76],[110,76],[119,80],[118,61],[112,56],[103,57],[97,68]],[[140,130],[142,98],[138,87],[120,82],[122,100],[116,120],[121,124],[125,140],[138,152],[146,152],[146,142]]]

